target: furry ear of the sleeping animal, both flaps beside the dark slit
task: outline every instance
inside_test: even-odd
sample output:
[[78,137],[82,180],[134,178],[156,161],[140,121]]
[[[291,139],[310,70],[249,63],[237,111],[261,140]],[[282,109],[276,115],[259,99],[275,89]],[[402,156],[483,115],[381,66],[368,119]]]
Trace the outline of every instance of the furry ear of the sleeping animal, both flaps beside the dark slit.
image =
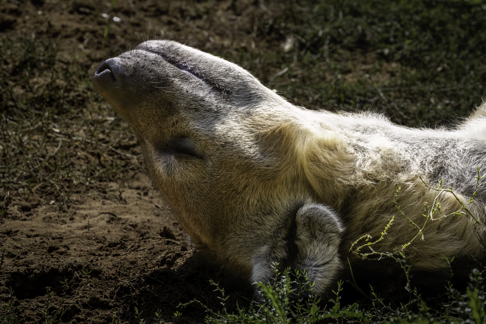
[[[295,227],[294,227],[295,226]],[[289,260],[289,247],[297,246],[297,256],[292,266],[305,269],[307,278],[315,282],[313,290],[322,294],[341,270],[338,247],[344,228],[332,208],[305,203],[295,214],[293,241],[282,231],[268,236],[264,244],[252,255],[252,282],[272,282],[275,275],[272,265]],[[295,244],[295,245],[294,245]],[[291,257],[292,258],[292,257]],[[260,301],[260,292],[255,288],[255,300]]]

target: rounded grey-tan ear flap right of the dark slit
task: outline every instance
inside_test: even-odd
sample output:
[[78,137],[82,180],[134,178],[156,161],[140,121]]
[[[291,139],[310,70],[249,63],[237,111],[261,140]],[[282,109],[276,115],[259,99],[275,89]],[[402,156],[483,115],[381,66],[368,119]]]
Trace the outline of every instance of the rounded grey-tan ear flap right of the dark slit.
[[315,283],[313,292],[322,295],[342,269],[338,250],[344,227],[332,208],[315,203],[304,204],[295,223],[295,268],[305,269],[307,278]]

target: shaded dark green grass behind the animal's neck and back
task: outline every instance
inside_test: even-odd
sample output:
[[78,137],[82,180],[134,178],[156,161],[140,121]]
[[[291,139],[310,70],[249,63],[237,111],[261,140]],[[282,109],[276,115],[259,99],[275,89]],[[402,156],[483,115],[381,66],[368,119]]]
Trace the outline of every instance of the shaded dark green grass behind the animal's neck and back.
[[[284,3],[258,25],[266,50],[226,58],[291,101],[379,111],[410,126],[454,123],[481,103],[486,2]],[[293,45],[287,52],[280,46],[286,40]]]

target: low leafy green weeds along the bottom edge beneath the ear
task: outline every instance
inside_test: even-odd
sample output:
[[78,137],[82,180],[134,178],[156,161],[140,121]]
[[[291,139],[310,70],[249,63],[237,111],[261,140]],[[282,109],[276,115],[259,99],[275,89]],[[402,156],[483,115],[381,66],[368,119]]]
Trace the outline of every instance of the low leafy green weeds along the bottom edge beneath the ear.
[[[296,280],[295,280],[296,279]],[[439,324],[439,323],[485,323],[485,283],[482,273],[473,270],[465,294],[449,288],[443,297],[443,303],[437,308],[428,307],[417,291],[415,299],[406,305],[392,307],[371,290],[366,301],[350,305],[340,302],[342,281],[338,289],[332,291],[333,298],[327,304],[320,298],[307,298],[306,292],[312,289],[312,283],[305,273],[291,273],[288,269],[276,272],[273,284],[258,283],[262,291],[262,302],[249,307],[237,307],[231,313],[226,310],[224,290],[217,284],[216,291],[223,297],[222,310],[208,309],[205,323],[214,324],[313,324],[313,323],[403,323],[403,324]],[[293,287],[296,287],[293,289]],[[324,305],[324,306],[323,306]]]

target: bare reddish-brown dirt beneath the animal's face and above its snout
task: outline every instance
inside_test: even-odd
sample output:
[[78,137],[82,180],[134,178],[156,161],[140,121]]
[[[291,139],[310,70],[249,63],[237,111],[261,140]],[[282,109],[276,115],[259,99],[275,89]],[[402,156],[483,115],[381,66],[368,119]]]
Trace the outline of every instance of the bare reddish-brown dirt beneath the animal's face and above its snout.
[[[208,6],[211,15],[205,14]],[[58,55],[76,60],[89,76],[105,59],[156,33],[209,52],[258,50],[253,25],[270,9],[246,0],[119,0],[114,10],[94,0],[1,0],[0,35],[51,39]],[[102,15],[118,17],[104,46],[107,19]],[[82,102],[85,110],[95,105]],[[51,130],[57,135],[50,136],[62,137],[55,127]],[[230,290],[236,286],[240,303],[251,299],[247,287],[198,258],[142,171],[143,163],[133,158],[139,148],[131,139],[115,147],[120,154],[111,152],[128,165],[123,182],[93,180],[72,188],[65,201],[44,190],[45,184],[3,193],[2,323],[201,323],[201,307],[186,307],[179,317],[174,312],[179,302],[194,298],[214,307],[218,300],[209,279]],[[61,142],[49,154],[57,153]],[[102,163],[100,149],[77,146],[70,152],[79,157],[77,165]]]

